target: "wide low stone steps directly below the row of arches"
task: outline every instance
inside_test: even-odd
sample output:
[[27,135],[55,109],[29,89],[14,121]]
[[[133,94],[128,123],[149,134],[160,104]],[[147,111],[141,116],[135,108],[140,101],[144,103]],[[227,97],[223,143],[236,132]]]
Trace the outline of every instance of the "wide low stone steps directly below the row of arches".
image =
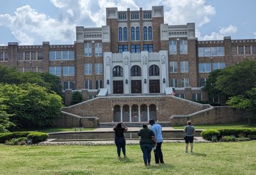
[[[127,127],[142,127],[143,123],[148,124],[148,122],[129,122],[129,123],[125,123],[124,124]],[[159,125],[161,125],[162,127],[170,127],[171,123],[168,121],[161,121],[161,122],[157,122]],[[111,122],[111,123],[99,123],[99,128],[113,128],[115,125],[117,124],[117,122]]]

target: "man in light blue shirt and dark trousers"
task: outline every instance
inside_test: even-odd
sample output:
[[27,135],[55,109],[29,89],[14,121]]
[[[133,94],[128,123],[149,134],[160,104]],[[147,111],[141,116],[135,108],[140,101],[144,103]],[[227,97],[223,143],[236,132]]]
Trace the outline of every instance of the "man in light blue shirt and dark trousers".
[[156,137],[156,150],[154,151],[155,155],[155,162],[156,164],[164,164],[164,159],[163,159],[163,153],[161,150],[161,146],[163,143],[163,135],[162,135],[162,126],[157,124],[154,119],[150,119],[149,124],[152,126],[151,130],[154,132],[155,137]]

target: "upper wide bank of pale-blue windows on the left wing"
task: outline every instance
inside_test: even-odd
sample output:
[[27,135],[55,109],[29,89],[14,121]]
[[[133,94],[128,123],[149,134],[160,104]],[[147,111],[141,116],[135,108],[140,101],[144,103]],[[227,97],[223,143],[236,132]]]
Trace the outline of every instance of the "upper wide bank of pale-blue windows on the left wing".
[[74,51],[50,51],[49,59],[52,60],[74,60]]

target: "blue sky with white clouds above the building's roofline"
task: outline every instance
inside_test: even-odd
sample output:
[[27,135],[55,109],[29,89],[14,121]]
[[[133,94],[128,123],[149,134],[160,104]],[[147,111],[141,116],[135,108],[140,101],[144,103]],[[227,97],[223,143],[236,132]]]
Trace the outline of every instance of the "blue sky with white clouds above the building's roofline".
[[164,23],[195,22],[198,40],[256,38],[255,0],[0,0],[0,45],[71,44],[76,26],[106,25],[106,8],[164,6]]

